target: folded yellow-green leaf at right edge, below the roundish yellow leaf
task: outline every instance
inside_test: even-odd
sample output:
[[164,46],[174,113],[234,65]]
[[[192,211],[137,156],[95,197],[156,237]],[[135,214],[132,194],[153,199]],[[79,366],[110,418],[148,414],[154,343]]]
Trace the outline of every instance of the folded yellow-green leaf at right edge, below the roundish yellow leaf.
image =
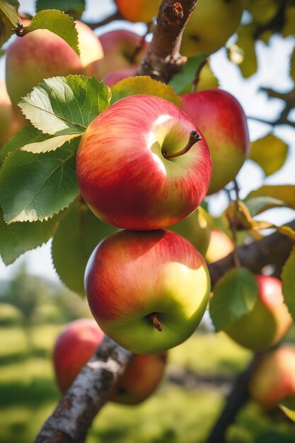
[[250,214],[255,216],[273,207],[295,209],[295,185],[265,185],[248,194],[244,200]]

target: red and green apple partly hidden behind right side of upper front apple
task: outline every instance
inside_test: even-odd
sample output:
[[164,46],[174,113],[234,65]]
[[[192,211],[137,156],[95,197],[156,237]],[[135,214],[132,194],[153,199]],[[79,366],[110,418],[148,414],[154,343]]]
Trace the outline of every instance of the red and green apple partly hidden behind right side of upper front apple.
[[245,113],[236,98],[217,88],[183,94],[182,104],[209,146],[213,171],[208,194],[213,194],[236,177],[248,154]]

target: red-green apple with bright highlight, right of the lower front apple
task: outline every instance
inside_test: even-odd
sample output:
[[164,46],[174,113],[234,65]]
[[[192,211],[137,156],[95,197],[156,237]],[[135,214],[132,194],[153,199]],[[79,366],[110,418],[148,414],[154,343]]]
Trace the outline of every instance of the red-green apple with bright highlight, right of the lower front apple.
[[278,343],[287,333],[292,319],[284,304],[282,282],[266,275],[255,278],[259,292],[253,310],[231,323],[224,332],[239,345],[259,352]]

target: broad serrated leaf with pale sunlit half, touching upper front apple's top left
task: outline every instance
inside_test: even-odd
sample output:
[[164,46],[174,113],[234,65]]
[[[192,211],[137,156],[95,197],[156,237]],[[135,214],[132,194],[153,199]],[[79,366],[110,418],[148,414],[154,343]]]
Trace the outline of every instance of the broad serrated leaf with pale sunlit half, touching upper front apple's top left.
[[55,135],[81,134],[109,105],[103,81],[78,75],[46,79],[19,103],[38,130]]

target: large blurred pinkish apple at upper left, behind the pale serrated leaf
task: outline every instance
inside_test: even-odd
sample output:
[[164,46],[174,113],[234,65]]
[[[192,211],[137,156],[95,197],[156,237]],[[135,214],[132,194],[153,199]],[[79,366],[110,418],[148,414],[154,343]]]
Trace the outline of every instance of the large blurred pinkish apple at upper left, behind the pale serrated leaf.
[[6,86],[14,106],[43,79],[68,74],[93,74],[93,63],[103,57],[103,49],[87,25],[77,21],[76,29],[80,57],[62,38],[47,29],[34,30],[16,38],[8,46]]

